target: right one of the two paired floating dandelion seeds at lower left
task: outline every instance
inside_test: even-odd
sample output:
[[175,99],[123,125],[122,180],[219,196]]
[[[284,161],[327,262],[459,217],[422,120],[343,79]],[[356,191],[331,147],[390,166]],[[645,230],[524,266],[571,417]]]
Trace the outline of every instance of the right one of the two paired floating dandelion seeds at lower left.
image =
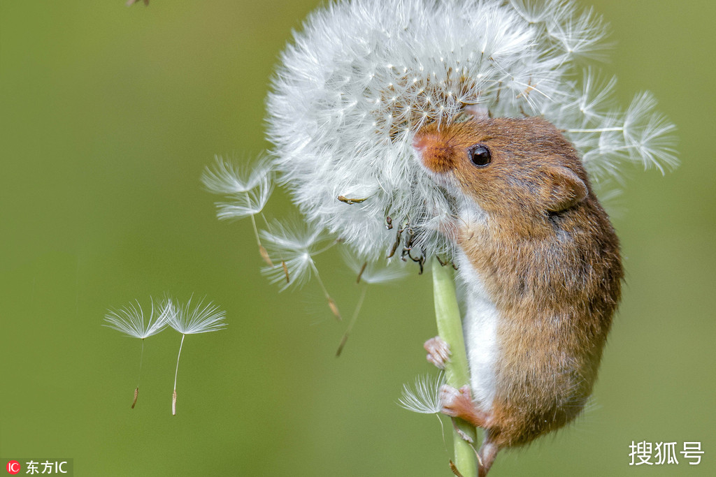
[[195,335],[198,333],[210,333],[212,331],[223,330],[226,323],[226,312],[218,308],[211,302],[204,303],[204,299],[192,307],[193,298],[190,298],[185,305],[177,307],[172,300],[167,300],[166,307],[170,309],[168,315],[168,325],[181,333],[181,342],[179,343],[179,353],[177,355],[177,367],[174,372],[174,391],[172,393],[172,415],[176,415],[177,403],[177,375],[179,373],[179,358],[184,345],[186,335]]

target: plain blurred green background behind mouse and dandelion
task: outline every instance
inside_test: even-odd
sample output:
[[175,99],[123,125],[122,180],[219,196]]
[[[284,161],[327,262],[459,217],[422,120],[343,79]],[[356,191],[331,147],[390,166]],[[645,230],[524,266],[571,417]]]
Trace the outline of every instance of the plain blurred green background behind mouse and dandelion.
[[[0,456],[74,458],[78,476],[448,476],[440,424],[396,405],[431,372],[429,275],[369,290],[344,331],[315,283],[279,294],[248,222],[215,218],[213,154],[267,146],[279,51],[316,1],[0,2]],[[508,475],[716,475],[716,4],[595,0],[619,99],[649,89],[679,127],[682,166],[634,172],[614,225],[624,301],[594,405],[517,452]],[[286,197],[272,199],[284,215]],[[319,257],[349,315],[354,277]],[[145,343],[105,310],[208,295],[228,328]],[[449,424],[446,423],[447,426]],[[632,441],[700,441],[699,466],[630,467]]]

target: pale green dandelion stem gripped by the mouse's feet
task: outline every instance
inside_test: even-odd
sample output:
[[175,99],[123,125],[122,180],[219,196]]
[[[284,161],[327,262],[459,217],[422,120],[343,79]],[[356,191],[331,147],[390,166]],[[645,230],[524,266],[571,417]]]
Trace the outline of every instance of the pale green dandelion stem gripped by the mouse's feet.
[[[460,319],[458,298],[455,296],[455,280],[452,268],[443,267],[437,260],[432,260],[432,288],[435,294],[435,321],[437,334],[450,345],[450,360],[445,363],[445,376],[448,385],[460,388],[470,383],[468,355],[465,352],[463,338],[463,321]],[[476,442],[475,427],[465,421],[453,420],[455,427]],[[475,463],[475,449],[453,429],[455,446],[455,466],[464,477],[478,475]]]

